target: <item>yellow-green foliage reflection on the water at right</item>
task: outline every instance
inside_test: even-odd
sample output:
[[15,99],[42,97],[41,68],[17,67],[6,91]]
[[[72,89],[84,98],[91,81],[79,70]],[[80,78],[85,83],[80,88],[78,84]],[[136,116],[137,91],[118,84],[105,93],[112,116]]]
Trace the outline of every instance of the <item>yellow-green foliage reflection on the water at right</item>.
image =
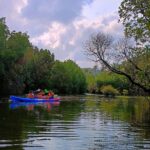
[[150,125],[150,103],[144,98],[103,99],[99,107],[112,119],[123,120],[134,126]]

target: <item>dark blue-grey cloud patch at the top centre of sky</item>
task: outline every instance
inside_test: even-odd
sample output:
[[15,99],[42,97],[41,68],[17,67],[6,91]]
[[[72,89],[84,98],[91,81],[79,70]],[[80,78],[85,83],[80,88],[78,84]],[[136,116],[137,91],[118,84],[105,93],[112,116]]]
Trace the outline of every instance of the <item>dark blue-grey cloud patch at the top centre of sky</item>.
[[43,23],[56,21],[67,24],[80,16],[83,5],[89,2],[89,0],[30,0],[22,15]]

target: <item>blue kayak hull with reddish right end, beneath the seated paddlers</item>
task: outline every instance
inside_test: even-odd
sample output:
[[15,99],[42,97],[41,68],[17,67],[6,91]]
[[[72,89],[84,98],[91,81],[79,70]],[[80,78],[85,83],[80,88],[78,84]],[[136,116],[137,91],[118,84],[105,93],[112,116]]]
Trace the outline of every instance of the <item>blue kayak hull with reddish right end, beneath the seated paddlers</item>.
[[39,98],[27,98],[27,97],[18,97],[10,96],[10,99],[15,102],[57,102],[60,101],[59,97],[50,98],[50,99],[39,99]]

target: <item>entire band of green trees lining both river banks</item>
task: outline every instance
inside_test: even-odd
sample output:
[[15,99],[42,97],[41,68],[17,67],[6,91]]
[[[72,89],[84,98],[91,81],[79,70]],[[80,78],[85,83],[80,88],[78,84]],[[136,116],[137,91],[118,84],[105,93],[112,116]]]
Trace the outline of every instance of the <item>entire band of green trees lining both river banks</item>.
[[[136,26],[134,31],[137,30],[137,32],[134,32],[133,35],[129,34],[129,31],[133,29],[130,27],[134,20],[129,24],[130,20],[127,18],[130,16],[125,14],[132,13],[132,11],[134,13],[136,9],[140,8],[139,4],[135,2],[132,3],[135,10],[130,10],[128,3],[128,0],[124,0],[121,4],[120,18],[125,25],[125,34],[135,39],[138,37],[137,43],[129,45],[128,40],[124,39],[119,41],[116,46],[113,45],[115,49],[112,49],[111,46],[114,44],[112,38],[103,33],[92,36],[86,43],[87,50],[91,50],[88,52],[96,56],[103,64],[102,70],[98,70],[96,67],[81,69],[72,60],[64,62],[55,60],[55,56],[50,50],[33,46],[26,33],[11,32],[6,25],[5,18],[1,18],[0,95],[24,94],[37,88],[52,89],[58,94],[89,92],[105,95],[142,95],[143,91],[149,93],[149,38],[145,38],[145,34],[140,34]],[[141,3],[145,2],[141,1]],[[133,19],[136,17],[139,16],[135,15]],[[138,23],[140,25],[141,22],[137,20]],[[149,31],[147,23],[145,28],[142,24],[142,33],[144,30]],[[146,36],[148,35],[146,34]],[[147,41],[143,41],[143,38]],[[98,49],[96,49],[97,47]],[[95,49],[93,50],[93,48]],[[110,64],[109,60],[114,61]]]

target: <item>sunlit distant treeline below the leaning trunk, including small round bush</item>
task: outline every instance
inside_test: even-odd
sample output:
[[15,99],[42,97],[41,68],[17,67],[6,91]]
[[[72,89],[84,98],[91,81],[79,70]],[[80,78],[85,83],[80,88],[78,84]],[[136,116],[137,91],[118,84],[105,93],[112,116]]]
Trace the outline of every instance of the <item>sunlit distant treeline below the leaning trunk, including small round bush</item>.
[[144,95],[144,92],[131,84],[129,80],[108,70],[96,67],[84,69],[87,92],[104,95]]

